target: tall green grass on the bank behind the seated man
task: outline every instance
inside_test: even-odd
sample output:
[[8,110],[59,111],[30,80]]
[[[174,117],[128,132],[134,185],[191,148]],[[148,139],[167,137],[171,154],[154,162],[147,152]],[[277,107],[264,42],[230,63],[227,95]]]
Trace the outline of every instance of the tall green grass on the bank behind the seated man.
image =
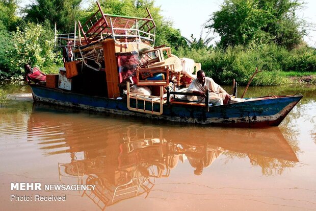
[[176,54],[193,59],[202,64],[206,75],[220,84],[231,84],[232,79],[240,85],[246,85],[256,67],[262,70],[258,73],[252,85],[280,85],[288,83],[284,72],[316,74],[316,51],[306,45],[293,51],[275,44],[260,46],[235,46],[226,50],[215,49],[183,49]]

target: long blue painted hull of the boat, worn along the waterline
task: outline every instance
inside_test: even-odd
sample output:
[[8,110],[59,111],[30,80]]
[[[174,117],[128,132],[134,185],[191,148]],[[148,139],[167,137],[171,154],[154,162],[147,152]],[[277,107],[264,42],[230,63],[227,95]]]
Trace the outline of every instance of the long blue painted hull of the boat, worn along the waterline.
[[[197,107],[194,105],[164,104],[163,114],[154,115],[134,112],[127,108],[126,100],[82,95],[71,91],[31,85],[35,101],[62,106],[83,108],[144,118],[163,119],[175,122],[199,123],[231,127],[278,126],[302,96],[285,96],[222,106]],[[135,102],[131,102],[131,104]],[[159,105],[154,105],[159,110]]]

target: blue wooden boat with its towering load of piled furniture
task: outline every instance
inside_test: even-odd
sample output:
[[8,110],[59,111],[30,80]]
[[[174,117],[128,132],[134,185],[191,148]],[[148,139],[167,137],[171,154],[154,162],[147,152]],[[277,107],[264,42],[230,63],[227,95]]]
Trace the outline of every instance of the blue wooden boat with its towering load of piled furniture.
[[[147,17],[137,18],[103,14],[97,6],[86,24],[78,21],[78,37],[76,31],[56,34],[58,46],[72,49],[76,60],[67,54],[59,75],[47,75],[45,86],[32,84],[35,101],[174,122],[268,127],[278,126],[302,98],[267,96],[221,106],[210,106],[208,97],[205,104],[177,100],[190,95],[176,88],[188,87],[200,64],[177,58],[165,46],[153,47],[155,24],[148,10]],[[128,80],[157,93],[133,92]],[[170,82],[177,91],[166,95]]]

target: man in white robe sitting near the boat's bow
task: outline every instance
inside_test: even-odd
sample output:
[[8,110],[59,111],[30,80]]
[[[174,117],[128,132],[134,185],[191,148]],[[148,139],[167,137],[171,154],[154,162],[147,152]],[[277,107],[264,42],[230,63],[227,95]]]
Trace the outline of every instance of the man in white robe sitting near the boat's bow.
[[[209,102],[213,105],[225,105],[231,99],[230,95],[217,83],[214,82],[212,78],[205,77],[204,71],[200,70],[197,72],[197,78],[192,81],[188,88],[189,93],[194,93],[198,95],[199,102],[205,102],[205,90],[209,89]],[[195,96],[188,96],[188,100],[196,98]]]

